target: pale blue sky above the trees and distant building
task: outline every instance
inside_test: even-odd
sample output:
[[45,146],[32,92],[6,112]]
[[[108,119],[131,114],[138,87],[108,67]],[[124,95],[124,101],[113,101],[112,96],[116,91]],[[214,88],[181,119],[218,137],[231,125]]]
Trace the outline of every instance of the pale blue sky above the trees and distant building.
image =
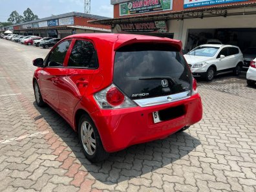
[[[110,0],[91,0],[91,14],[113,16]],[[0,0],[0,22],[6,22],[12,11],[19,15],[30,8],[39,19],[68,12],[84,12],[84,0]]]

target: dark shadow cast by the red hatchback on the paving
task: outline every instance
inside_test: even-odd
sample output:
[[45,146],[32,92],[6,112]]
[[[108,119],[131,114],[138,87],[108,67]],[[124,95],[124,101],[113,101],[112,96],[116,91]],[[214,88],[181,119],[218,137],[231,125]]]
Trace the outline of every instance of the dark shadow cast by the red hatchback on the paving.
[[171,175],[172,163],[188,155],[200,145],[197,138],[187,133],[175,133],[162,140],[133,145],[122,151],[111,153],[104,162],[91,164],[83,155],[78,135],[70,125],[50,107],[37,107],[36,102],[34,102],[34,107],[40,113],[34,120],[40,118],[45,120],[50,129],[63,140],[64,145],[67,145],[66,150],[71,150],[93,177],[91,179],[107,185],[118,184],[136,177],[147,178],[153,171],[157,173],[162,167],[165,167],[165,173],[169,172]]

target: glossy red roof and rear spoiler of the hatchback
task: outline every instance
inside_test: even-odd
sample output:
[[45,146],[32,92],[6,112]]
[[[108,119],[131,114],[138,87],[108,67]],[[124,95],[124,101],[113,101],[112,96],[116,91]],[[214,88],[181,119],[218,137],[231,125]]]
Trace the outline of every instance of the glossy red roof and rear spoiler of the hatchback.
[[133,43],[145,43],[145,42],[155,42],[155,43],[170,43],[174,45],[178,50],[181,50],[182,43],[179,40],[169,39],[167,37],[156,37],[156,36],[144,36],[136,34],[106,34],[106,33],[94,33],[94,34],[76,34],[72,36],[65,37],[65,39],[70,38],[81,38],[81,39],[92,39],[95,43],[100,43],[100,41],[109,41],[109,43],[114,44],[114,50],[118,48],[133,44]]

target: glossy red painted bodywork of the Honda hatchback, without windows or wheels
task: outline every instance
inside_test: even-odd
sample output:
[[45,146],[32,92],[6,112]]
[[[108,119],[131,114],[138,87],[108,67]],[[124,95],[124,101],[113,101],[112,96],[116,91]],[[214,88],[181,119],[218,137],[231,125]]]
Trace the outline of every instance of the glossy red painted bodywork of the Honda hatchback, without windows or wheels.
[[[63,68],[38,68],[34,73],[34,79],[39,83],[43,100],[59,112],[72,126],[72,129],[76,130],[78,126],[76,112],[81,109],[87,112],[98,128],[106,151],[118,151],[129,145],[165,138],[182,127],[201,120],[202,102],[199,94],[173,103],[124,109],[101,109],[94,99],[94,93],[112,84],[115,50],[125,45],[146,42],[170,43],[181,50],[182,43],[180,41],[127,34],[77,34],[65,37],[59,43],[67,39],[72,39],[72,43],[67,51]],[[98,69],[67,67],[76,39],[86,39],[94,44],[98,54]],[[86,83],[81,83],[81,81]],[[177,105],[184,105],[186,113],[183,116],[165,122],[153,123],[153,112]]]

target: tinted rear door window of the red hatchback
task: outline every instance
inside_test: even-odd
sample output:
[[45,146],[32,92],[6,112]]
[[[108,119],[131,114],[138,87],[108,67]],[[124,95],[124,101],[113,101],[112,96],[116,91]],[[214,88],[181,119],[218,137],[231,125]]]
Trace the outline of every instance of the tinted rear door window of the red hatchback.
[[68,67],[98,68],[98,57],[90,41],[76,40],[69,57]]

